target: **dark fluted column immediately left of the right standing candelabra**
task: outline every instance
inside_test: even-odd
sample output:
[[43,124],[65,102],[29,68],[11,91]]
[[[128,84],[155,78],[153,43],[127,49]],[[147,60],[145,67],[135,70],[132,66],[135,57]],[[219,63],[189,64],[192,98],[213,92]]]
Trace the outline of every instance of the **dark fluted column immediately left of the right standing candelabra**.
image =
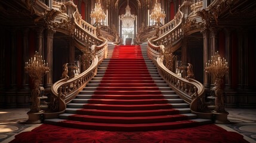
[[[203,69],[206,67],[206,63],[209,63],[209,32],[205,30],[203,33]],[[209,90],[209,75],[206,72],[203,72],[203,85],[205,89]]]

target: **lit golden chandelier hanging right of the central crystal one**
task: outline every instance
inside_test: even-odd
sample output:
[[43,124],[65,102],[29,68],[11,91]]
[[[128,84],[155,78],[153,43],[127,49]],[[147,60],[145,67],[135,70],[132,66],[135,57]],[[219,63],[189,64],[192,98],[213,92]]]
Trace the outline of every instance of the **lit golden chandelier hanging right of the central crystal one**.
[[158,25],[161,24],[161,19],[165,18],[165,11],[162,10],[160,3],[155,3],[155,7],[152,10],[152,13],[150,14],[150,18],[155,20]]

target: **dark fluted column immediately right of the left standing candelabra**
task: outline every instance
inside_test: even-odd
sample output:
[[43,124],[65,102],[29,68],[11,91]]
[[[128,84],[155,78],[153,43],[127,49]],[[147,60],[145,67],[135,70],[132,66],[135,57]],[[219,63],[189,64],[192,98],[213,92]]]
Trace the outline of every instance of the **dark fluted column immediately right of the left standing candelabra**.
[[51,90],[51,86],[53,85],[53,35],[54,31],[51,29],[47,30],[46,42],[45,42],[45,50],[44,57],[45,62],[48,63],[48,67],[50,71],[45,75],[44,85],[45,90]]

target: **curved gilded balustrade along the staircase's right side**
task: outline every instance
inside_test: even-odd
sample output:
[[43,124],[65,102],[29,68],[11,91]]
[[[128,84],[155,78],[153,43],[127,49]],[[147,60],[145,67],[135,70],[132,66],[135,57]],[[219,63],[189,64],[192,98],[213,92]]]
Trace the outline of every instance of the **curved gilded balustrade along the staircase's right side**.
[[181,24],[184,22],[184,14],[181,12],[181,8],[184,7],[185,2],[178,10],[177,18],[179,19],[176,26],[169,32],[160,36],[159,38],[150,38],[147,45],[147,55],[153,60],[158,68],[158,73],[168,83],[168,85],[178,94],[180,97],[190,104],[192,113],[198,115],[198,117],[212,119],[212,113],[202,113],[203,99],[205,95],[205,88],[202,83],[193,79],[184,79],[177,74],[173,73],[164,66],[163,59],[160,53],[164,51],[164,48],[172,48],[171,52],[174,52],[177,48],[180,48],[179,43],[183,38]]

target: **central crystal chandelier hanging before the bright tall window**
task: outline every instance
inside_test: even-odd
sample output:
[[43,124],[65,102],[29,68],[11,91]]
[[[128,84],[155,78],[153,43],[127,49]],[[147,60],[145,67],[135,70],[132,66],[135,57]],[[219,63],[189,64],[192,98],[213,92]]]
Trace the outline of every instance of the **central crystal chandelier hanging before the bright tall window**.
[[131,15],[131,8],[129,8],[129,0],[127,0],[127,7],[125,8],[125,14],[121,15],[121,20],[124,27],[132,27],[134,25],[135,15]]

